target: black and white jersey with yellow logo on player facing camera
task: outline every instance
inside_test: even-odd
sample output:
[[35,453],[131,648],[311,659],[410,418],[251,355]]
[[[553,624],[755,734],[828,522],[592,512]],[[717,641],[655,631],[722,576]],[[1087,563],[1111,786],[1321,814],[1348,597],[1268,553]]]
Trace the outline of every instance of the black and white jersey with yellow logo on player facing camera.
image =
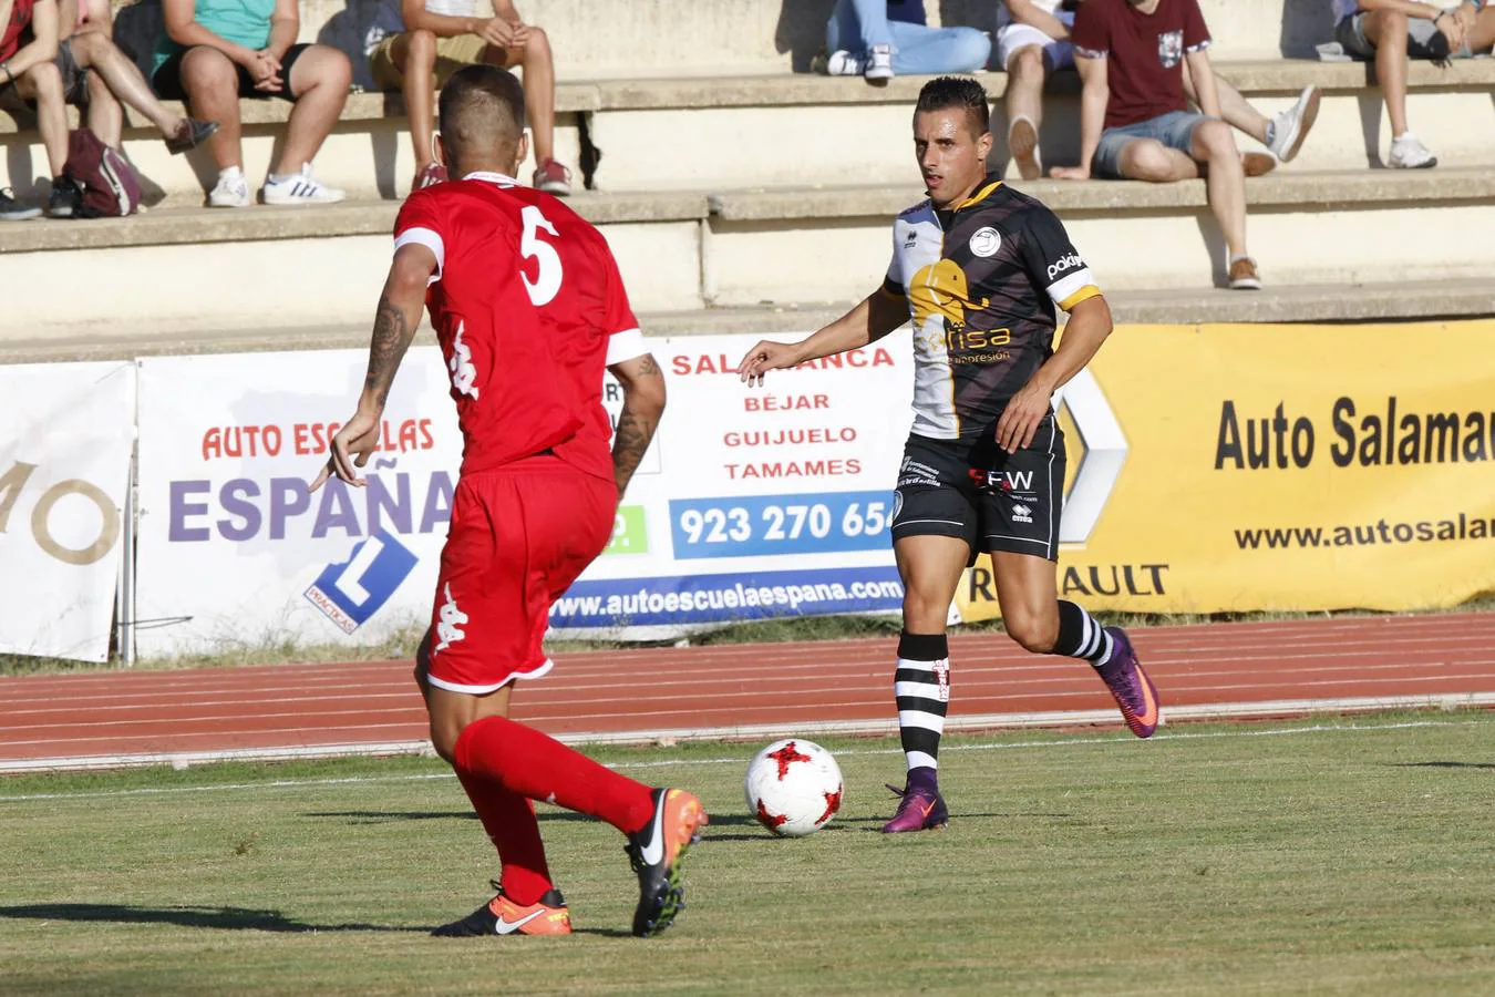
[[1052,211],[987,176],[954,209],[897,217],[884,293],[913,318],[913,432],[973,441],[1052,356],[1055,306],[1100,288]]

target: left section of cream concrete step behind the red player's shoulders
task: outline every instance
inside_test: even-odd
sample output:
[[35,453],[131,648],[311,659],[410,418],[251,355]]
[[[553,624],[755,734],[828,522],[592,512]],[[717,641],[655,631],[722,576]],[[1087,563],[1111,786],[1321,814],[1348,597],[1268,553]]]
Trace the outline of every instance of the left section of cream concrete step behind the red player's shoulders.
[[[706,194],[580,194],[571,205],[607,235],[640,309],[703,305]],[[188,333],[362,318],[389,268],[398,211],[387,200],[0,224],[9,285],[45,288],[12,297],[12,329]]]

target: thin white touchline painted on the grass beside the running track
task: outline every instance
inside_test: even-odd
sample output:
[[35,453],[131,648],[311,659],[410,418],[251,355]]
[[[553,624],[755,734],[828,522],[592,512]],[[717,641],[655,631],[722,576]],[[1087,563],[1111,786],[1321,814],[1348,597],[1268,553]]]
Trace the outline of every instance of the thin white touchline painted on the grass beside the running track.
[[[1395,723],[1317,723],[1314,726],[1287,726],[1287,728],[1262,728],[1248,731],[1178,731],[1169,732],[1162,731],[1154,734],[1151,741],[1189,741],[1189,740],[1230,740],[1244,737],[1296,737],[1305,734],[1374,734],[1383,731],[1405,731],[1416,728],[1437,728],[1437,726],[1473,726],[1483,723],[1485,720],[1399,720]],[[946,744],[942,750],[946,752],[1003,752],[1003,750],[1049,750],[1061,747],[1084,747],[1094,744],[1130,744],[1133,738],[1124,734],[1115,734],[1108,737],[1076,737],[1066,740],[1044,740],[1044,741],[1006,741],[1006,743],[984,743],[984,744]],[[333,747],[353,747],[353,746],[327,746]],[[372,746],[359,746],[372,747]],[[378,747],[389,749],[384,753],[431,753],[431,747],[426,741],[411,741],[411,743],[390,743]],[[401,749],[401,750],[395,750]],[[692,765],[740,765],[748,758],[750,758],[752,747],[745,746],[742,755],[733,755],[730,758],[671,758],[659,761],[638,761],[638,762],[614,762],[608,768],[616,770],[649,770],[649,768],[689,768]],[[848,747],[836,752],[839,756],[876,756],[876,755],[901,755],[903,750],[897,747]],[[281,761],[280,756],[257,755],[250,756],[248,752],[239,756],[220,758],[212,753],[208,758],[208,752],[203,753],[203,762],[208,761]],[[309,758],[311,755],[299,755],[299,758]],[[332,755],[321,755],[323,758],[330,758]],[[144,758],[144,756],[142,756]],[[84,792],[33,792],[33,794],[15,794],[15,795],[0,795],[0,804],[4,803],[34,803],[46,800],[108,800],[118,797],[160,797],[160,795],[178,795],[178,794],[193,794],[193,792],[235,792],[245,789],[300,789],[300,788],[318,788],[318,786],[348,786],[348,785],[380,785],[380,783],[401,783],[401,782],[429,782],[438,779],[453,779],[453,773],[420,773],[408,776],[348,776],[342,779],[275,779],[269,782],[242,782],[242,783],[218,783],[211,786],[158,786],[158,788],[139,788],[139,789],[105,789],[105,791],[84,791]]]

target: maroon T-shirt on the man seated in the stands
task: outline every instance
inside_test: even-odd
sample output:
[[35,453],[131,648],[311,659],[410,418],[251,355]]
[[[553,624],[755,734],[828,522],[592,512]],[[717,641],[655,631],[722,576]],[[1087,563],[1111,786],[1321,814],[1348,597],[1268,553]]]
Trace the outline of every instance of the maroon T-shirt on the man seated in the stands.
[[1075,54],[1106,60],[1106,127],[1186,111],[1184,54],[1209,46],[1199,0],[1160,0],[1142,13],[1126,0],[1085,0],[1070,28]]

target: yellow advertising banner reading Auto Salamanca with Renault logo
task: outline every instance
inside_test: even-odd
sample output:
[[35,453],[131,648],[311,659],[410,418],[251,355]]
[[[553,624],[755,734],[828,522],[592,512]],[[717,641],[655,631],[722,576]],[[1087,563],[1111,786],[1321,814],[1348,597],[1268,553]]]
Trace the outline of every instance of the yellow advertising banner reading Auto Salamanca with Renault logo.
[[[1120,326],[1060,401],[1060,596],[1407,610],[1495,590],[1495,321]],[[957,595],[1000,616],[990,559]]]

